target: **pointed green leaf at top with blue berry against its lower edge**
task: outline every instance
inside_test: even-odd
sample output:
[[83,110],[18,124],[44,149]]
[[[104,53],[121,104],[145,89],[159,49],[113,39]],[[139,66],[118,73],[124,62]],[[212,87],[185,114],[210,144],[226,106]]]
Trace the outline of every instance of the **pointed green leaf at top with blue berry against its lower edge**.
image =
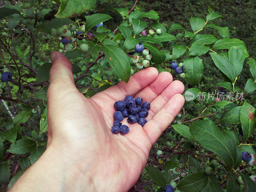
[[108,14],[102,14],[102,13],[92,14],[86,18],[85,31],[89,31],[94,26],[109,19],[112,19],[112,17],[110,17]]

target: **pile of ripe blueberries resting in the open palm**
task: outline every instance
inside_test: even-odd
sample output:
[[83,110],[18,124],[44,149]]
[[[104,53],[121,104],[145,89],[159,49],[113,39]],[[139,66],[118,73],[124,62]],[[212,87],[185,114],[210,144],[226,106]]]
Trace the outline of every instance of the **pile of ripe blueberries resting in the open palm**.
[[148,116],[148,110],[150,109],[150,103],[143,102],[142,98],[137,97],[133,100],[131,95],[125,97],[124,101],[116,101],[114,104],[114,108],[116,112],[114,113],[114,124],[112,127],[112,132],[114,134],[121,133],[126,134],[129,132],[129,127],[127,125],[122,125],[120,121],[124,119],[124,117],[128,117],[128,123],[136,123],[140,124],[142,127],[147,120],[145,119]]

